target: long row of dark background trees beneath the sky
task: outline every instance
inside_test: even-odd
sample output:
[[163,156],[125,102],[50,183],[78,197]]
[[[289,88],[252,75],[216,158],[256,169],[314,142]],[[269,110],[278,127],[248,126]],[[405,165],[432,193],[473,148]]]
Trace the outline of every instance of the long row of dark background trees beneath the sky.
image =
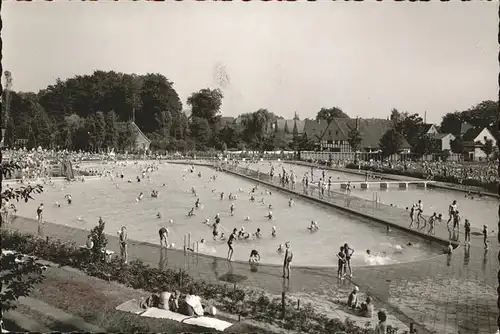
[[[52,147],[98,151],[107,148],[124,150],[135,142],[135,135],[126,122],[133,120],[152,140],[152,149],[204,150],[225,149],[314,149],[313,142],[291,132],[276,135],[270,124],[282,119],[266,109],[239,115],[238,121],[221,115],[223,93],[218,89],[201,89],[187,99],[190,114],[173,83],[161,74],[123,74],[95,71],[92,75],[75,76],[38,93],[14,92],[10,89],[12,75],[5,73],[2,121],[6,124],[5,144],[27,147]],[[443,117],[440,131],[458,137],[452,150],[464,151],[459,137],[463,122],[476,127],[494,127],[498,122],[498,103],[484,101]],[[298,116],[296,115],[298,119]],[[316,116],[330,124],[334,118],[349,118],[340,108],[322,108]],[[380,142],[384,154],[398,152],[407,141],[415,153],[435,152],[436,142],[422,136],[424,120],[419,114],[391,111],[394,128]],[[325,130],[326,132],[326,130]],[[350,129],[348,142],[359,150],[362,134]],[[485,145],[485,150],[492,145]],[[486,152],[485,151],[485,152]]]

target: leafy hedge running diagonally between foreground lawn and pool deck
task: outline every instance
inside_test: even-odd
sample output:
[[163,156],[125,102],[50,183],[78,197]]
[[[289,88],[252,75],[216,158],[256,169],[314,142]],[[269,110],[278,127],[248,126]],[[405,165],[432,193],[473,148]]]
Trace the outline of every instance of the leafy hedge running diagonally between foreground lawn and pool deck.
[[[124,264],[119,259],[110,263],[91,262],[86,250],[77,248],[74,243],[50,238],[43,239],[5,229],[0,230],[0,236],[2,248],[5,249],[42,258],[60,266],[71,266],[88,275],[125,284],[134,289],[143,289],[152,293],[173,290],[179,290],[182,293],[192,292],[206,300],[215,301],[225,312],[265,321],[288,330],[318,334],[372,332],[369,329],[372,324],[367,323],[366,328],[361,328],[349,319],[345,322],[330,319],[316,312],[311,305],[305,305],[299,310],[294,306],[296,303],[289,298],[285,303],[285,318],[283,319],[280,298],[270,299],[256,291],[245,292],[227,285],[195,281],[182,270],[177,271],[171,268],[160,270],[138,260],[129,264]],[[388,331],[393,334],[397,332],[397,328],[391,328]]]

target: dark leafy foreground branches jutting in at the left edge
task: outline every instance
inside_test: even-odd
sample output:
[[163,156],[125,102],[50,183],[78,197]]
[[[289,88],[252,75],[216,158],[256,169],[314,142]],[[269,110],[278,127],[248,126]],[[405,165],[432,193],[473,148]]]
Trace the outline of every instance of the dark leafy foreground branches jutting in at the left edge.
[[[1,177],[6,178],[12,175],[15,170],[20,170],[21,167],[16,163],[1,163]],[[33,199],[32,194],[41,193],[43,187],[40,185],[28,185],[17,187],[16,189],[7,188],[2,191],[2,204],[5,201],[20,201],[28,202]],[[3,223],[3,215],[0,216]],[[32,257],[26,257],[18,252],[11,254],[2,254],[2,268],[0,271],[1,292],[0,301],[2,303],[3,312],[15,308],[16,301],[21,296],[29,296],[36,284],[43,281],[43,271],[46,266],[38,263]]]

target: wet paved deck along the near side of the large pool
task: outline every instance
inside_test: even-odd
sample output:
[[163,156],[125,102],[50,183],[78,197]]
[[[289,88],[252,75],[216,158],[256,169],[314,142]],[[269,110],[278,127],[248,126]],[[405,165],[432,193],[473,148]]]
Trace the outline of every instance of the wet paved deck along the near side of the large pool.
[[[347,205],[341,197],[337,201]],[[356,203],[361,202],[352,198],[350,208],[362,208]],[[371,208],[365,207],[368,209],[374,215],[393,217],[393,224],[398,224],[398,219],[401,227],[408,226],[407,214],[396,217],[393,207],[380,205],[374,208],[371,203]],[[15,219],[9,227],[33,234],[37,230],[36,222],[25,218]],[[83,245],[88,231],[47,223],[44,233]],[[443,239],[447,238],[446,228],[436,230],[436,235],[438,233]],[[117,238],[108,236],[108,241],[108,248],[118,253]],[[492,246],[490,244],[490,250],[485,252],[481,238],[473,236],[470,247],[459,247],[450,257],[354,268],[354,277],[350,281],[337,280],[334,268],[293,268],[290,281],[285,283],[281,269],[276,266],[259,265],[254,271],[248,263],[229,263],[192,253],[185,256],[182,251],[161,251],[158,245],[135,241],[129,245],[129,254],[131,259],[141,259],[155,267],[186,269],[194,278],[212,282],[218,282],[218,277],[227,272],[245,275],[248,279],[239,285],[261,288],[273,294],[285,290],[295,296],[331,300],[339,295],[346,298],[355,284],[362,292],[375,297],[377,308],[386,308],[406,324],[419,324],[419,333],[494,333],[497,329],[498,262],[497,247]],[[295,252],[300,250],[295,249]]]

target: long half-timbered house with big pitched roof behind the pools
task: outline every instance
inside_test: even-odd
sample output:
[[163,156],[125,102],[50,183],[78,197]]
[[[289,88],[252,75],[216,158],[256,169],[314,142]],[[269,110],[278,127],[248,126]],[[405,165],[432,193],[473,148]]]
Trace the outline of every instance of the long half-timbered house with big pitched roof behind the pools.
[[[379,150],[380,139],[387,131],[394,128],[394,124],[390,120],[376,118],[334,118],[330,125],[324,120],[306,120],[304,133],[310,140],[316,142],[322,151],[352,152],[349,132],[356,127],[361,134],[360,150],[373,152]],[[410,149],[406,140],[402,149]]]

